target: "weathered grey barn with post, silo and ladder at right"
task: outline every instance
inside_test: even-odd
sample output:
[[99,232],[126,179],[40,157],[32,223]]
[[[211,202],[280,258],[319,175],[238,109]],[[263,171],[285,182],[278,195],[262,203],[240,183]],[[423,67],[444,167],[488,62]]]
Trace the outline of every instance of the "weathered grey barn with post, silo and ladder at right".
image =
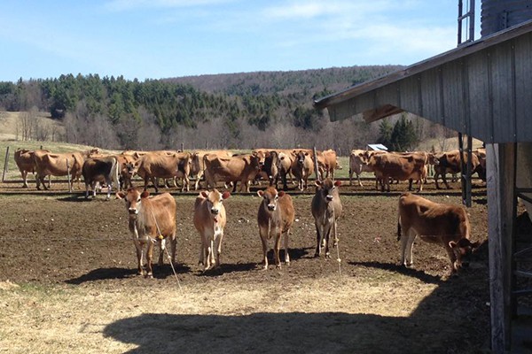
[[515,243],[518,197],[532,214],[529,7],[529,1],[484,0],[480,40],[315,102],[333,121],[411,112],[486,143],[491,347],[497,353],[518,352],[516,330],[530,319],[518,311],[516,296],[530,296],[532,289],[517,289],[516,279],[532,278],[518,267],[519,259],[532,260],[532,245]]

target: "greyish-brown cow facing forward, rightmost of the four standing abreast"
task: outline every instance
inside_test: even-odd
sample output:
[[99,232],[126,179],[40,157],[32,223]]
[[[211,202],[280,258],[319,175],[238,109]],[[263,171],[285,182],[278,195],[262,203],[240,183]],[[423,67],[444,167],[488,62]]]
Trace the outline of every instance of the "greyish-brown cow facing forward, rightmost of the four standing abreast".
[[340,181],[332,182],[330,178],[325,181],[315,181],[317,189],[312,198],[311,210],[316,226],[316,254],[314,257],[321,256],[322,243],[325,244],[325,257],[330,258],[329,243],[331,232],[334,237],[334,246],[338,244],[338,234],[336,226],[340,218],[342,206],[338,187]]

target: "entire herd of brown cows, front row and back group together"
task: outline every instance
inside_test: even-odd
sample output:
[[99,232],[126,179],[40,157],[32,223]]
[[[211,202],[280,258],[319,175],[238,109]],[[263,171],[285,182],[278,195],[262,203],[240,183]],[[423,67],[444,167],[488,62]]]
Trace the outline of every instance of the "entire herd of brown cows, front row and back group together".
[[[316,154],[316,158],[315,158]],[[467,154],[465,154],[467,158]],[[472,173],[482,177],[485,171],[485,151],[475,150],[471,157]],[[268,268],[268,241],[274,240],[274,259],[281,267],[279,250],[284,241],[285,263],[290,262],[288,239],[293,224],[294,210],[292,196],[285,190],[287,179],[295,179],[297,189],[309,188],[309,177],[315,173],[321,178],[315,181],[316,193],[312,198],[311,211],[317,230],[316,257],[330,257],[330,241],[338,242],[336,227],[342,213],[342,205],[334,171],[341,168],[334,150],[270,150],[256,149],[249,154],[232,154],[227,150],[201,150],[191,152],[159,150],[131,151],[121,154],[103,155],[97,149],[84,152],[52,153],[48,150],[16,150],[15,162],[20,169],[27,187],[27,173],[35,173],[36,188],[47,189],[46,176],[68,176],[69,181],[85,182],[86,197],[90,190],[96,196],[98,184],[106,185],[107,198],[116,189],[123,199],[129,214],[129,231],[137,250],[137,270],[139,274],[153,276],[152,255],[155,243],[160,248],[159,263],[162,264],[166,244],[170,246],[171,262],[176,259],[176,201],[169,193],[150,196],[147,191],[149,181],[159,191],[159,179],[164,183],[181,180],[181,190],[190,189],[190,177],[195,176],[194,189],[200,191],[194,204],[194,226],[200,233],[200,265],[204,270],[220,266],[223,228],[226,214],[223,200],[231,196],[229,191],[220,192],[217,182],[232,184],[232,192],[249,192],[251,182],[262,178],[270,186],[257,192],[262,203],[257,212],[259,234],[262,239],[262,265]],[[446,173],[460,173],[461,163],[458,150],[432,154],[424,151],[411,153],[391,153],[382,151],[352,150],[349,157],[349,183],[356,174],[359,185],[360,174],[372,172],[376,177],[376,188],[389,191],[390,181],[413,181],[422,190],[428,168],[434,165],[436,187],[438,178],[449,188]],[[132,178],[138,175],[144,181],[144,190],[136,189]],[[284,190],[278,190],[281,181]],[[50,183],[50,182],[49,182]],[[50,187],[50,186],[49,186]],[[49,188],[48,187],[48,188]],[[467,213],[460,205],[436,204],[421,196],[405,193],[399,199],[397,236],[401,240],[401,262],[412,264],[412,246],[419,236],[426,242],[441,244],[450,258],[451,273],[467,266],[468,258],[479,244],[471,242],[470,225]]]

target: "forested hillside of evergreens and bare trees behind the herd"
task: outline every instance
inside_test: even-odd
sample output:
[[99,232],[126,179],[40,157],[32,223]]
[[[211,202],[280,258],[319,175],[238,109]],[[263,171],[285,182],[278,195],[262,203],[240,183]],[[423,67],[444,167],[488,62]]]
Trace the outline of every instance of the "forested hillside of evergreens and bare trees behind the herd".
[[[65,142],[109,149],[284,148],[347,151],[379,137],[354,119],[330,122],[315,98],[401,66],[351,66],[294,72],[233,73],[128,81],[98,74],[0,82],[0,109],[30,112],[25,138],[39,139],[31,112],[65,126]],[[22,123],[21,123],[22,124]],[[423,129],[416,125],[417,129]]]

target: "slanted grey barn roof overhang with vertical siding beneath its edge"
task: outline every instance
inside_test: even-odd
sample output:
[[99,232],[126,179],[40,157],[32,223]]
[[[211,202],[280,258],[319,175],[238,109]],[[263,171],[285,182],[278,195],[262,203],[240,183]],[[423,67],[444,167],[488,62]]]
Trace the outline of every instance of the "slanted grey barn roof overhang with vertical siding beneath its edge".
[[331,120],[411,112],[484,142],[532,141],[532,20],[315,101]]

